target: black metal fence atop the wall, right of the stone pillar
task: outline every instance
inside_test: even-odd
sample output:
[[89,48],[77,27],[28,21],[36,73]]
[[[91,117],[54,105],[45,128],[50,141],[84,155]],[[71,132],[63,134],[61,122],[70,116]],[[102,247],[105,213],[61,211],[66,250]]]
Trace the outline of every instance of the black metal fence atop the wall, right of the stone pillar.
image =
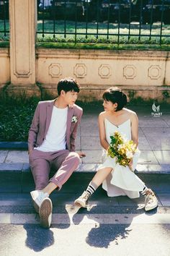
[[40,0],[38,40],[170,43],[170,0]]

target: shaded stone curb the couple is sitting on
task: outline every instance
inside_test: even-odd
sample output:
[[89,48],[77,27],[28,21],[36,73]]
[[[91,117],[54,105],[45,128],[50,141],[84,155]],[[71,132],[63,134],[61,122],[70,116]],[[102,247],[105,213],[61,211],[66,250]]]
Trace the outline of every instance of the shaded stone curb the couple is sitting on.
[[[81,164],[77,171],[73,173],[67,183],[73,182],[80,184],[86,179],[90,182],[97,171],[97,164]],[[156,171],[144,168],[143,171],[135,171],[135,174],[143,180],[143,182],[170,182],[170,169],[163,168]],[[153,168],[155,169],[155,168]],[[50,176],[53,176],[53,171]],[[0,192],[30,192],[35,188],[32,173],[28,163],[0,163]]]

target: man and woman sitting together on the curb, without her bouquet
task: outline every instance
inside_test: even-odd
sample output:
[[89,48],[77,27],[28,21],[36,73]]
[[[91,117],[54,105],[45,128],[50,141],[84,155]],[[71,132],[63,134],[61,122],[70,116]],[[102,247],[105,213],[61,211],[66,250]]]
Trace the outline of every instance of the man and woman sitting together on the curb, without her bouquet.
[[[54,189],[60,190],[73,171],[79,166],[84,153],[75,152],[76,132],[81,121],[82,108],[75,104],[79,94],[79,85],[73,78],[58,82],[58,98],[53,101],[40,101],[29,131],[29,160],[35,182],[31,192],[35,210],[40,215],[40,225],[49,228],[53,205],[49,198]],[[104,111],[99,114],[99,137],[102,148],[107,150],[110,135],[115,131],[126,135],[128,140],[138,145],[138,117],[134,111],[125,108],[128,97],[119,88],[109,88],[103,94]],[[138,153],[133,155],[130,168],[117,168],[115,158],[105,154],[104,163],[89,183],[83,194],[75,200],[75,205],[86,207],[89,197],[97,187],[107,191],[109,197],[128,195],[146,197],[145,210],[152,210],[158,200],[151,189],[134,174]],[[49,180],[50,167],[55,166],[56,173]],[[132,171],[133,170],[133,171]]]

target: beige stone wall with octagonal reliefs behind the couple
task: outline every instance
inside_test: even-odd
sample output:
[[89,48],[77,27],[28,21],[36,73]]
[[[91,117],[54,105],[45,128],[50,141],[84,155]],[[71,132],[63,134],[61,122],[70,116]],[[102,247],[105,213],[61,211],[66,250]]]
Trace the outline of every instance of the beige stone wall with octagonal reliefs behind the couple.
[[[37,48],[35,82],[29,75],[10,70],[9,49],[0,49],[0,88],[9,95],[23,93],[42,98],[57,95],[58,81],[75,77],[81,85],[81,101],[94,101],[110,86],[119,86],[130,98],[169,101],[169,51],[107,51]],[[11,80],[11,72],[19,82]],[[6,83],[8,85],[6,85]]]

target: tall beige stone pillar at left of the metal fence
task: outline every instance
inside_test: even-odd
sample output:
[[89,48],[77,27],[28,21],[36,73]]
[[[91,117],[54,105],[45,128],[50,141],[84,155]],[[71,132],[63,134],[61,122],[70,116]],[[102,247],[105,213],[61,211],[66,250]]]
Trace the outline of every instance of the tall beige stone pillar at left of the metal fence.
[[35,85],[35,38],[37,27],[37,0],[10,0],[10,68],[14,94],[37,94]]

